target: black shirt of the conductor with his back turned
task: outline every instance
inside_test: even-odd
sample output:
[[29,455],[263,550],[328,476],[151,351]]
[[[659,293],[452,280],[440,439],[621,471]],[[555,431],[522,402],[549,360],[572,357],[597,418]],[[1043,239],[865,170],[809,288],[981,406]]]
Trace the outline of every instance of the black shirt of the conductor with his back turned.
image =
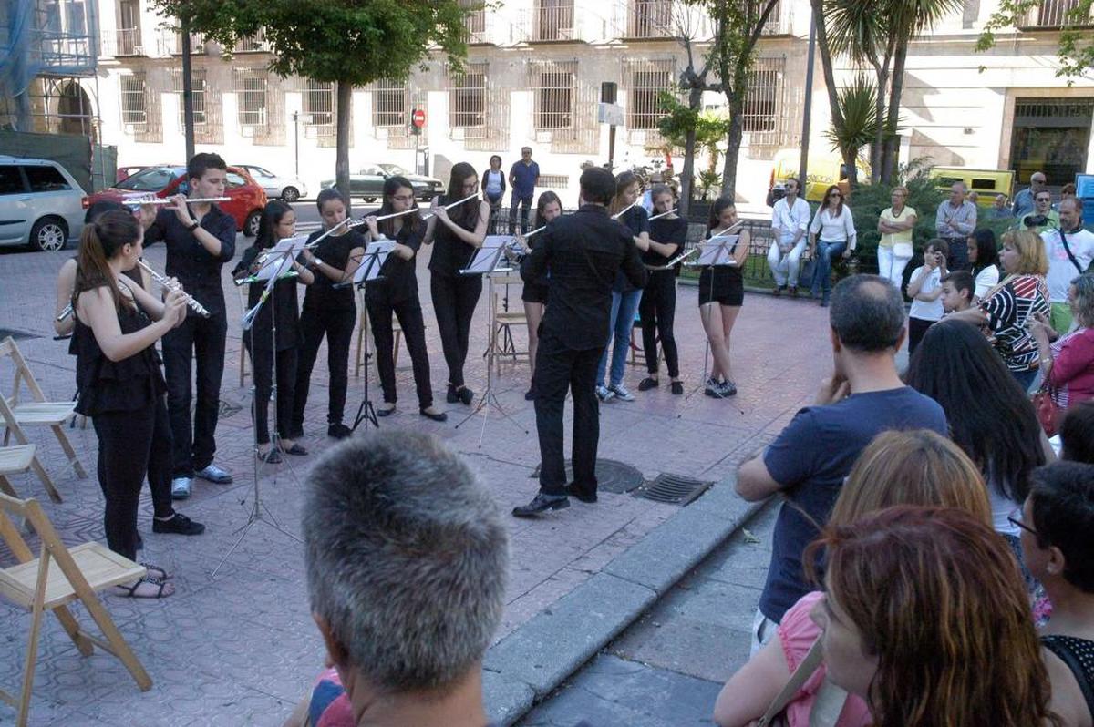
[[543,330],[568,348],[604,348],[608,340],[612,285],[621,272],[632,288],[645,285],[645,268],[630,230],[605,208],[585,204],[556,218],[521,263],[525,282],[550,273],[550,305]]

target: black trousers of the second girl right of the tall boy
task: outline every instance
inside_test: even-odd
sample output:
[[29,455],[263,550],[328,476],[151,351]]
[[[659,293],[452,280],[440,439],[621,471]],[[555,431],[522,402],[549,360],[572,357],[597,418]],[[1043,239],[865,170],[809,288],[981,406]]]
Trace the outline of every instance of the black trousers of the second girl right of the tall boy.
[[293,391],[292,435],[304,433],[304,408],[311,387],[312,370],[319,353],[323,337],[327,338],[327,371],[330,375],[330,402],[327,406],[327,424],[341,424],[346,413],[346,389],[349,386],[349,343],[353,339],[357,312],[326,310],[304,306],[300,314],[300,328],[304,340],[300,347],[296,385]]

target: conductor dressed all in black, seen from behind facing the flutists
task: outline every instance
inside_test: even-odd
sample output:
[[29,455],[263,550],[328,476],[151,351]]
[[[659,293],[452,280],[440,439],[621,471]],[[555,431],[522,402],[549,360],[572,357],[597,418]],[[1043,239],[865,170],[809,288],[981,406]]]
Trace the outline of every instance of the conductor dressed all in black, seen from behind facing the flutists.
[[[600,410],[596,365],[608,340],[612,284],[622,271],[636,286],[645,269],[632,233],[608,216],[615,195],[612,173],[589,168],[581,174],[581,208],[552,220],[521,265],[525,281],[549,273],[550,305],[539,325],[536,354],[536,430],[539,435],[539,493],[515,507],[516,517],[534,517],[570,506],[567,495],[596,502],[596,445]],[[566,482],[562,408],[573,396],[573,482]]]

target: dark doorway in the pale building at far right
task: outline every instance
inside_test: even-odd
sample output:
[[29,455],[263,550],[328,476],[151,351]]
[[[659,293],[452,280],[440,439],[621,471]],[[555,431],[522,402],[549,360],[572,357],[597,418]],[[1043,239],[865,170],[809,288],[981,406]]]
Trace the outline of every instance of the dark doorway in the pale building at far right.
[[1049,187],[1061,187],[1086,171],[1094,96],[1087,98],[1015,98],[1011,168],[1017,184],[1041,171]]

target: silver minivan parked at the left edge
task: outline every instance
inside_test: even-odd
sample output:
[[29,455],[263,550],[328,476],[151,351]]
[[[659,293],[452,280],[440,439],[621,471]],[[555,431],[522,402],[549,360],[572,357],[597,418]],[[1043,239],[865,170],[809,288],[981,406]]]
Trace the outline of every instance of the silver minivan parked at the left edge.
[[0,156],[0,245],[61,249],[83,230],[85,199],[57,162]]

